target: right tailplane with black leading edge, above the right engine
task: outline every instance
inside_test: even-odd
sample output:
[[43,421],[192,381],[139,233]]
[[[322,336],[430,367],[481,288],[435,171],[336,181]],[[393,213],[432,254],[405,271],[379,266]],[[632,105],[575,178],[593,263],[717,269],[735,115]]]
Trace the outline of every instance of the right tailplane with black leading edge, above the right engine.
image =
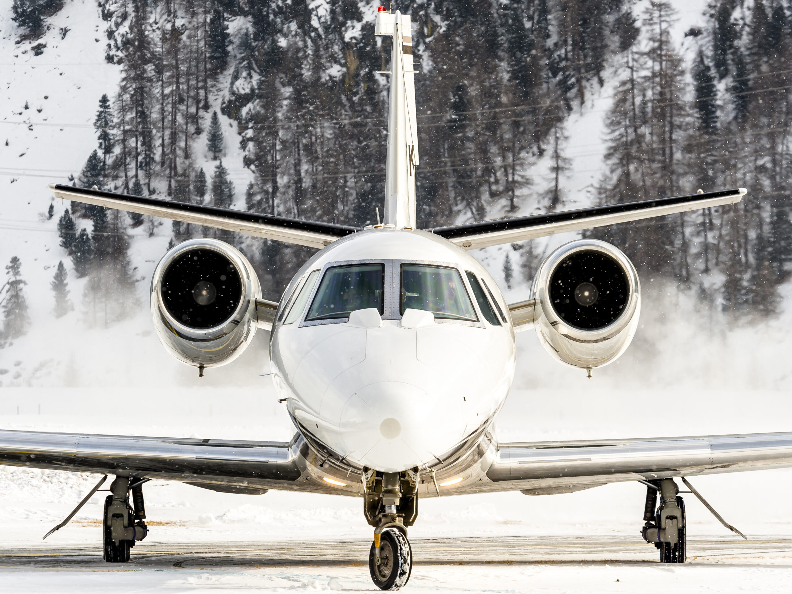
[[512,219],[485,221],[484,223],[436,227],[431,231],[464,249],[478,249],[498,246],[503,243],[523,242],[526,239],[546,237],[567,231],[581,231],[615,223],[673,215],[676,212],[734,204],[740,202],[746,192],[748,190],[745,188],[733,188],[689,196],[672,196],[657,200],[581,208],[574,211],[550,212],[546,215],[520,216]]

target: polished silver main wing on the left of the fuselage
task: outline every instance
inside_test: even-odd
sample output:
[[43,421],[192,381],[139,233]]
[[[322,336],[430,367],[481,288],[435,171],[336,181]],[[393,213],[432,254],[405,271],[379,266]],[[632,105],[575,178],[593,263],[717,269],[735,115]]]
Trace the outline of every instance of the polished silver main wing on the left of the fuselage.
[[265,489],[343,493],[306,471],[309,448],[291,442],[0,431],[0,464],[159,478],[231,493]]

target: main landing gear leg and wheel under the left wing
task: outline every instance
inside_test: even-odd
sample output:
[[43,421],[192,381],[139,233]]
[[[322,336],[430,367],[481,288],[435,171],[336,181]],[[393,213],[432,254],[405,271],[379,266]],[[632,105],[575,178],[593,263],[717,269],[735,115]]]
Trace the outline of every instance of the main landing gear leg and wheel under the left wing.
[[[146,519],[146,508],[143,505],[143,483],[147,478],[116,477],[110,485],[110,492],[105,499],[105,561],[108,563],[126,563],[129,561],[129,549],[135,542],[143,540],[148,528],[143,521]],[[129,505],[129,492],[132,493],[132,508]]]

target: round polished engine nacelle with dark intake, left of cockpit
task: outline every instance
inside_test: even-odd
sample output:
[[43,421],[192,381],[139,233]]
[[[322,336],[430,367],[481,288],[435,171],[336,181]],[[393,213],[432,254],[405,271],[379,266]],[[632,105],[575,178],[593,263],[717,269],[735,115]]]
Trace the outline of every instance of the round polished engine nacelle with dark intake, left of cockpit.
[[159,340],[198,367],[230,363],[256,333],[261,285],[247,258],[216,239],[169,249],[151,279],[151,315]]

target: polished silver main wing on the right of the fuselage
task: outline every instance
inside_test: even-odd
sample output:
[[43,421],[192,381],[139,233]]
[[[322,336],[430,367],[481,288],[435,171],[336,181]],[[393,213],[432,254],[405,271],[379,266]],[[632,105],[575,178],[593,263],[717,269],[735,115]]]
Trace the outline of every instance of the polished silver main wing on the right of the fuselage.
[[491,483],[471,485],[471,492],[549,495],[609,482],[786,468],[792,432],[498,444],[496,451],[486,471]]

